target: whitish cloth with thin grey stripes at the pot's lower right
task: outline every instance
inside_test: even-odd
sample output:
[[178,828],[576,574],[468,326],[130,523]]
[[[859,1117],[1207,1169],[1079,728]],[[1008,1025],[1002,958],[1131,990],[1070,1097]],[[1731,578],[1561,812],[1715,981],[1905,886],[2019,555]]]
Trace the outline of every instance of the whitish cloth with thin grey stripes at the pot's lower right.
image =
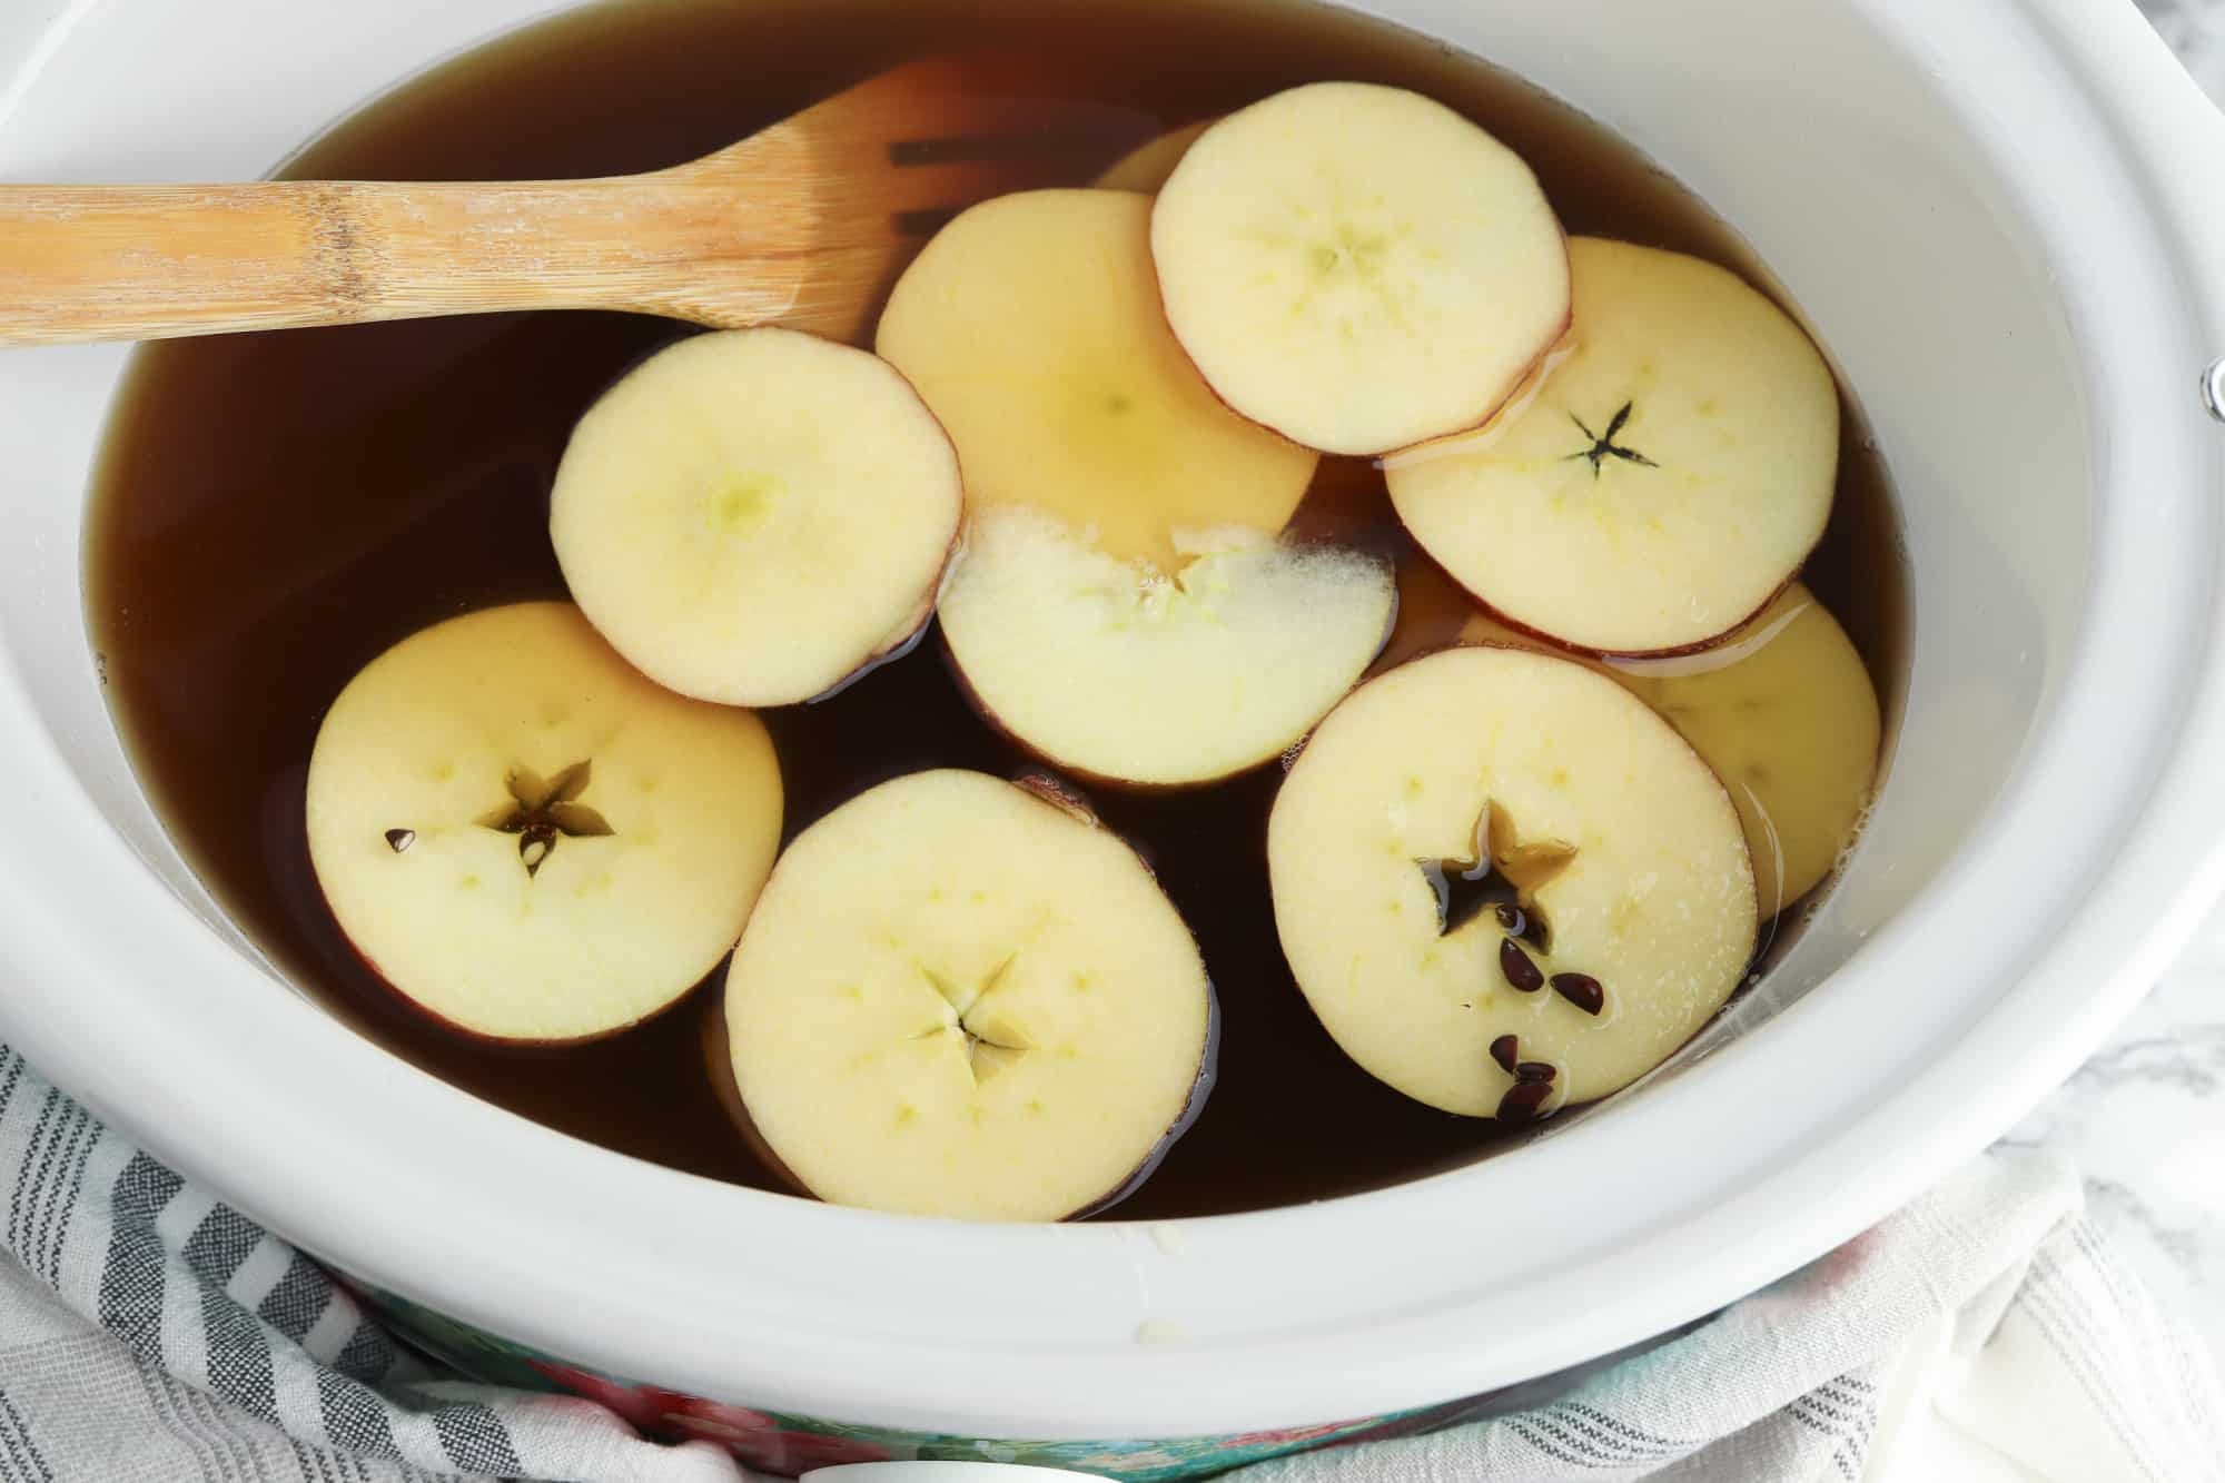
[[1996,1149],[1891,1220],[1553,1405],[1246,1483],[2214,1483],[2207,1354]]

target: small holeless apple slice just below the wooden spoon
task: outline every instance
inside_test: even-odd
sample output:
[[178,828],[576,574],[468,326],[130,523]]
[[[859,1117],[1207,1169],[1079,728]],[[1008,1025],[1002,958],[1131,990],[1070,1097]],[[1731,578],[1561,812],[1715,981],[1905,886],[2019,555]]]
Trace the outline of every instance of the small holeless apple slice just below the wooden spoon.
[[814,699],[901,650],[961,517],[957,454],[903,376],[772,327],[634,367],[550,497],[587,619],[650,679],[728,706]]

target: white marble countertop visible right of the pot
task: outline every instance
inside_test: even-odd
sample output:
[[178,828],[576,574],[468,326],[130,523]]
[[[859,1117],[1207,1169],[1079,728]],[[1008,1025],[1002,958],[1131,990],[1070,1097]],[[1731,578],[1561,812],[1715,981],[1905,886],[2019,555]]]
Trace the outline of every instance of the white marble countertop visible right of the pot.
[[[2225,0],[2138,2],[2225,102]],[[2225,1374],[2225,909],[2009,1138],[2078,1160],[2089,1216]]]

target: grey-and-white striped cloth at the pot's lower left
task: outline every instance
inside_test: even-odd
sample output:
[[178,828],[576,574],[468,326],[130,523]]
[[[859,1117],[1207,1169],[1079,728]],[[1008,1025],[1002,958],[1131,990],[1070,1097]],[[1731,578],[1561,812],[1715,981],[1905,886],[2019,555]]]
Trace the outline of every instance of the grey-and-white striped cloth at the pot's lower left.
[[461,1383],[0,1044],[0,1483],[736,1483],[712,1443]]

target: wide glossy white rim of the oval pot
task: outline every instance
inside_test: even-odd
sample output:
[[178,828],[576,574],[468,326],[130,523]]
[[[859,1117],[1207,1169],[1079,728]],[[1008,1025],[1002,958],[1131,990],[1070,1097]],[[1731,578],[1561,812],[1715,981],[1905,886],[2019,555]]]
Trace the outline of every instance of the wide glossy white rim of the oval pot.
[[[2194,399],[2225,350],[2225,205],[2207,191],[2225,127],[2132,7],[1849,9],[1956,78],[1965,116],[2020,120],[1996,167],[2060,254],[2094,423],[2114,430],[2094,470],[2112,497],[2092,623],[1929,897],[1704,1076],[1651,1089],[1642,1118],[1609,1109],[1475,1169],[1175,1227],[955,1227],[676,1176],[481,1104],[274,993],[98,822],[16,668],[9,1029],[151,1151],[403,1296],[768,1410],[825,1414],[839,1376],[857,1412],[841,1418],[928,1432],[1184,1436],[1397,1410],[1611,1352],[1818,1256],[2058,1082],[2225,880],[2225,461]],[[2127,748],[2096,775],[2092,737],[2112,726]],[[2092,875],[2027,902],[1989,886],[2047,851]],[[2000,924],[2002,955],[1954,969],[1998,993],[1862,1098],[1878,1067],[1838,1064],[1840,1047],[1880,1004],[1920,1015],[1918,944],[1974,920]],[[2125,922],[2152,924],[2134,951]],[[1787,1067],[1798,1116],[1744,1129],[1736,1162],[1711,1156],[1709,1129],[1769,1109]],[[1600,1169],[1649,1180],[1602,1191]],[[1495,1249],[1515,1189],[1555,1191],[1551,1260]],[[1586,1243],[1602,1200],[1622,1218]]]

